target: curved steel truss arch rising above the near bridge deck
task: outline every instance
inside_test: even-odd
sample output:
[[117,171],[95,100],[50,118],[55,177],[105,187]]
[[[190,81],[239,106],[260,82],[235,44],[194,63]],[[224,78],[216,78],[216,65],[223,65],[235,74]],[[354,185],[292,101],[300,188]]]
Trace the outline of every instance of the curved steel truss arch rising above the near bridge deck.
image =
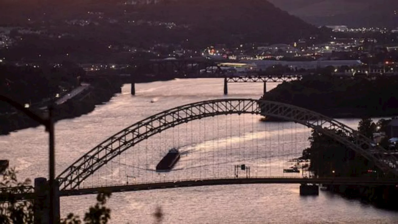
[[[96,170],[123,151],[142,140],[184,122],[222,114],[261,114],[297,122],[326,134],[360,153],[385,173],[397,175],[397,159],[380,146],[372,146],[372,140],[345,124],[304,108],[254,99],[217,99],[195,102],[165,110],[141,120],[103,141],[65,169],[57,179],[60,190],[75,189]],[[347,136],[337,135],[340,130]],[[373,148],[373,149],[372,149]],[[374,153],[378,152],[378,153]]]

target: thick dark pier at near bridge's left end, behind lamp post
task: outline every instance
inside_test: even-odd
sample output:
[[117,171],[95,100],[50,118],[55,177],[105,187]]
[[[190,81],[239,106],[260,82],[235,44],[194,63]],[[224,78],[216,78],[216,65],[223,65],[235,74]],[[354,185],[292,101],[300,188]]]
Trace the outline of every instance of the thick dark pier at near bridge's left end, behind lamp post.
[[[59,183],[55,181],[54,213],[55,219],[60,219]],[[45,177],[35,178],[35,195],[33,214],[35,224],[49,224],[50,222],[50,185]]]

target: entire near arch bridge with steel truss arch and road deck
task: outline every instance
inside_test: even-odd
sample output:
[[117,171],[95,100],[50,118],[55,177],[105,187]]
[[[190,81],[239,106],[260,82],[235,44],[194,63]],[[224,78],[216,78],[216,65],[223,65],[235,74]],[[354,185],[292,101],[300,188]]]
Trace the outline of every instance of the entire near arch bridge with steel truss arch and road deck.
[[[191,179],[176,178],[175,180],[140,182],[132,184],[109,184],[107,186],[84,187],[82,183],[92,176],[101,167],[109,164],[121,153],[135,151],[141,141],[149,139],[151,136],[174,128],[180,124],[213,118],[219,115],[231,114],[257,114],[261,116],[271,116],[282,120],[302,124],[312,128],[319,133],[333,138],[334,140],[346,145],[353,151],[359,153],[367,160],[375,164],[384,173],[380,179],[360,179],[360,178],[297,178],[297,177],[230,177],[220,176],[217,178],[198,178]],[[345,135],[337,134],[336,131]],[[339,183],[347,185],[396,185],[395,177],[398,174],[396,168],[398,159],[394,154],[386,151],[379,145],[374,146],[373,141],[366,138],[359,132],[346,126],[345,124],[290,104],[273,102],[267,100],[254,99],[218,99],[195,102],[165,110],[148,118],[140,120],[135,124],[121,130],[117,134],[109,137],[84,155],[77,159],[72,165],[66,168],[57,177],[59,182],[59,195],[81,195],[92,194],[98,191],[137,191],[147,189],[162,189],[170,187],[189,187],[203,185],[222,185],[222,184],[249,184],[249,183]],[[213,161],[214,162],[214,161]],[[19,195],[20,198],[27,198],[32,195],[33,187],[19,187],[18,189],[6,189],[8,193]],[[2,199],[4,200],[4,199]]]

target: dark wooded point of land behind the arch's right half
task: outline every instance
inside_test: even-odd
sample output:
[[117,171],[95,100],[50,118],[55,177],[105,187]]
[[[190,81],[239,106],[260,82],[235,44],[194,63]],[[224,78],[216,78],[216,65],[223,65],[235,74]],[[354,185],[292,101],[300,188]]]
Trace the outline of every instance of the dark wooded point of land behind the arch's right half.
[[279,84],[263,98],[334,118],[394,116],[398,114],[397,84],[395,77],[368,80],[313,75]]

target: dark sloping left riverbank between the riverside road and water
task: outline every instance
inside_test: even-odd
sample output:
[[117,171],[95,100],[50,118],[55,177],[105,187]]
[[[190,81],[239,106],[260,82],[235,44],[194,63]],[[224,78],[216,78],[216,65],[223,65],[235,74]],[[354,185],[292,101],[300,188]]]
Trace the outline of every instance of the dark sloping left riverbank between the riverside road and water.
[[[56,106],[54,110],[55,121],[75,118],[92,112],[96,105],[108,102],[116,93],[120,93],[123,82],[101,78],[92,81],[90,84],[90,88],[81,92],[78,96]],[[46,114],[45,111],[39,109],[33,109],[33,111],[37,114]],[[0,116],[0,135],[39,125],[38,122],[20,112],[4,114]]]

